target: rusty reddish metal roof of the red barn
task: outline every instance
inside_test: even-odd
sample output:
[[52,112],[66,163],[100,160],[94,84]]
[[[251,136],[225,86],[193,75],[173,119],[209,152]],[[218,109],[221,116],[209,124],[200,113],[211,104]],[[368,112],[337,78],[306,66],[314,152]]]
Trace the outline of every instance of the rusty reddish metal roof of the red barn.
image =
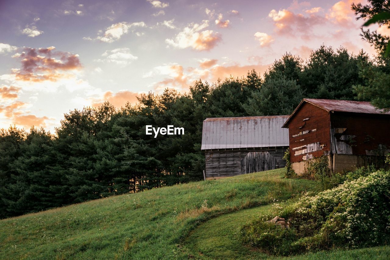
[[390,111],[383,112],[382,109],[376,109],[373,105],[371,105],[370,102],[304,98],[282,127],[284,128],[288,127],[290,120],[295,116],[296,112],[300,109],[300,107],[303,105],[304,102],[315,105],[316,107],[324,109],[328,112],[335,111],[335,112],[349,112],[349,113],[362,113],[362,114],[390,115]]

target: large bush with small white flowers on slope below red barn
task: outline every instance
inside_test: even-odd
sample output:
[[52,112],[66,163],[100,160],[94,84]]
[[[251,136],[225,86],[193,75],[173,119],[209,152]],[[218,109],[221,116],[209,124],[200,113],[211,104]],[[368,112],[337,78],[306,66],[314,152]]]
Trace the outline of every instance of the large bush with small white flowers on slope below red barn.
[[[291,255],[330,248],[360,248],[387,244],[390,240],[390,171],[379,170],[371,174],[361,172],[341,185],[305,195],[286,206],[279,216],[292,218],[292,228],[274,232],[283,241],[275,249],[264,248],[263,233],[272,233],[277,226],[264,225],[259,219],[242,230],[244,242],[277,255]],[[257,230],[252,226],[257,225]],[[287,235],[288,234],[288,235]],[[260,240],[259,240],[260,239]]]

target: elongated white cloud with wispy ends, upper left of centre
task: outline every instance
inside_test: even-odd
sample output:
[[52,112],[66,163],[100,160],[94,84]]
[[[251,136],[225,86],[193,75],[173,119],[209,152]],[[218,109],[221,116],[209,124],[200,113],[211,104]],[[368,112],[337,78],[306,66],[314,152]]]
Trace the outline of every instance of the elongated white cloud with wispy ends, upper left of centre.
[[143,21],[135,22],[135,23],[127,23],[127,22],[115,23],[106,29],[103,36],[97,36],[96,38],[83,37],[83,39],[86,40],[97,39],[105,43],[113,43],[114,41],[121,39],[122,35],[127,34],[129,32],[129,29],[132,27],[146,27],[146,24]]

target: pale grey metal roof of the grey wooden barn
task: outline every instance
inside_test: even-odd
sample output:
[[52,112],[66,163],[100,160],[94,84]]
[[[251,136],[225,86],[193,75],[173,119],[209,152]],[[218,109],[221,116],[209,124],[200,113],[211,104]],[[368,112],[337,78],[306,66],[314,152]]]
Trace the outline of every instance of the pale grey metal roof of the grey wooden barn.
[[288,129],[281,128],[288,117],[207,118],[201,150],[288,146]]

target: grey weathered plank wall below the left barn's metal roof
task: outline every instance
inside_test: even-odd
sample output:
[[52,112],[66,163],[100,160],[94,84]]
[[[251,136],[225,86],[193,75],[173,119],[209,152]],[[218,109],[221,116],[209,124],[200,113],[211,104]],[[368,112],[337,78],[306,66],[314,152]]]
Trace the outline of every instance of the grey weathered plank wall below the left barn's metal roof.
[[229,177],[285,166],[282,159],[287,146],[251,150],[206,151],[206,178]]

